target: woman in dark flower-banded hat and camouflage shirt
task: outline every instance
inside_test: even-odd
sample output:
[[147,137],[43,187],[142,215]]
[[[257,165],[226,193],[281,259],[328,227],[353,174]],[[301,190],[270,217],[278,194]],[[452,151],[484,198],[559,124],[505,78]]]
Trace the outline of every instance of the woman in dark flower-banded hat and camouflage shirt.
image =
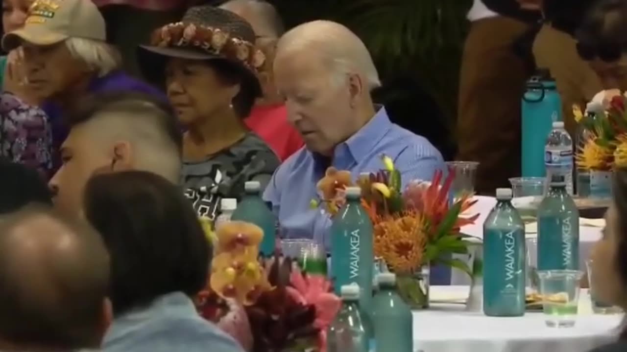
[[190,8],[181,22],[156,29],[139,49],[145,76],[165,84],[187,132],[182,181],[198,215],[214,219],[219,199],[240,198],[244,183],[268,184],[279,165],[274,152],[246,128],[261,95],[256,71],[265,60],[244,19],[212,6]]

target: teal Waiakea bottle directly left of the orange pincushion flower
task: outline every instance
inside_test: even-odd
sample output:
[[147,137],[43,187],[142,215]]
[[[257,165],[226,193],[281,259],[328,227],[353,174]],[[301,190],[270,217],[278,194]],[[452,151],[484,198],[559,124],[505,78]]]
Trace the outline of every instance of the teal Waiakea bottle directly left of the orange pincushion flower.
[[356,283],[362,290],[360,305],[369,311],[372,301],[372,222],[361,206],[361,189],[347,187],[346,204],[331,225],[331,277],[335,294]]

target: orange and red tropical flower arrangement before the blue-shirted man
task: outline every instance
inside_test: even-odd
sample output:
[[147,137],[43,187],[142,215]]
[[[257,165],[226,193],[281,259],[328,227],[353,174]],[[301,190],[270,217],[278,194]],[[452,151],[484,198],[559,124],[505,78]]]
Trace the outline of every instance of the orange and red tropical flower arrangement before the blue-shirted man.
[[383,156],[384,168],[362,174],[353,182],[350,172],[329,168],[318,183],[320,200],[330,216],[345,202],[345,189],[361,187],[362,205],[374,226],[374,254],[397,274],[400,294],[413,308],[428,306],[428,282],[422,269],[431,263],[458,267],[470,274],[465,262],[448,254],[466,254],[472,242],[460,228],[473,224],[479,214],[461,216],[475,201],[470,194],[449,200],[453,170],[448,175],[438,171],[431,182],[411,181],[401,189],[401,173],[391,158]]

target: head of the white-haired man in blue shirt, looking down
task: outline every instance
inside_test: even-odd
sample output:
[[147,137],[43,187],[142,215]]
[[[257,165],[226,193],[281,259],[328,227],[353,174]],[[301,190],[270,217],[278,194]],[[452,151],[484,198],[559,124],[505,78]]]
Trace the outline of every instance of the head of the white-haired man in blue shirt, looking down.
[[278,41],[274,76],[307,148],[329,155],[372,118],[381,85],[366,45],[342,24],[313,21]]

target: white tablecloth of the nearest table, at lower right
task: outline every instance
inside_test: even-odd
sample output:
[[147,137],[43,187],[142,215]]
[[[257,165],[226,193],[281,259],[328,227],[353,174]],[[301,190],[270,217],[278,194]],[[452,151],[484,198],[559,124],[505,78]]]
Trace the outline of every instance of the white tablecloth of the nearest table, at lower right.
[[[467,296],[467,286],[431,287],[431,298]],[[492,318],[469,313],[463,304],[431,304],[414,311],[414,351],[587,352],[616,339],[621,315],[593,315],[587,291],[573,328],[548,328],[542,313]]]

